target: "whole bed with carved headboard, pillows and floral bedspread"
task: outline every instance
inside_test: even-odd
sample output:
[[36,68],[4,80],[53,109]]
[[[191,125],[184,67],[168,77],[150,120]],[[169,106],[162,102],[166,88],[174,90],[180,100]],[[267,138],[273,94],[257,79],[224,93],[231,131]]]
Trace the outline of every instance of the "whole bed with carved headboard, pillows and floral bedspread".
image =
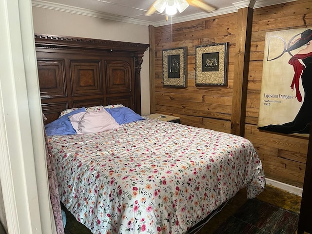
[[[140,116],[137,79],[148,45],[92,40],[90,49],[86,39],[36,38],[47,124],[64,117],[78,124],[79,134],[49,134],[60,200],[92,233],[187,233],[240,189],[248,198],[264,190],[248,139]],[[98,53],[110,44],[113,51]],[[112,60],[117,66],[106,66]],[[119,110],[135,117],[120,122]],[[106,112],[104,131],[81,127],[85,116]]]

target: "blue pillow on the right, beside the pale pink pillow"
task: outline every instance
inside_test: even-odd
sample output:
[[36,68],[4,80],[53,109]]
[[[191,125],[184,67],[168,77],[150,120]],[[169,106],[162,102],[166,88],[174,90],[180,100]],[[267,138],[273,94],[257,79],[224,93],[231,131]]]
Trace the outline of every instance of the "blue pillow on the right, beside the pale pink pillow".
[[130,123],[137,120],[145,120],[139,114],[135,113],[129,107],[117,107],[105,109],[119,124]]

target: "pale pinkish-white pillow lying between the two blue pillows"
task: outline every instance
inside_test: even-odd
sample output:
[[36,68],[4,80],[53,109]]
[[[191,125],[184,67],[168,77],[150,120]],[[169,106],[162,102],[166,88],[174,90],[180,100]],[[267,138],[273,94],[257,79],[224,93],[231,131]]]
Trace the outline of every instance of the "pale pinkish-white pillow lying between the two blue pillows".
[[86,112],[78,125],[78,134],[100,133],[118,128],[120,125],[105,110]]

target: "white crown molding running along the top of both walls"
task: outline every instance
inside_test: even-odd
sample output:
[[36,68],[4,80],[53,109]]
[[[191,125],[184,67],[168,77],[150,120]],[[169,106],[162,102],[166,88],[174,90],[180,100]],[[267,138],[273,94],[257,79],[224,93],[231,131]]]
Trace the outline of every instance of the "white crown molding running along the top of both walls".
[[137,20],[137,19],[133,19],[130,17],[117,16],[113,14],[92,11],[92,10],[88,10],[84,8],[68,6],[68,5],[59,4],[59,3],[52,3],[52,2],[48,2],[44,0],[32,0],[32,6],[58,10],[58,11],[63,11],[63,12],[68,12],[68,13],[75,13],[75,14],[80,14],[80,15],[85,15],[85,16],[90,16],[90,17],[97,17],[97,18],[101,18],[105,20],[114,20],[114,21],[132,23],[132,24],[137,24],[137,25],[142,25],[142,26],[153,25],[155,27],[158,27],[158,26],[168,25],[170,23],[180,23],[180,22],[185,22],[185,21],[199,20],[199,19],[208,18],[208,17],[225,15],[225,14],[237,12],[238,9],[245,8],[245,7],[250,7],[250,8],[255,9],[255,8],[261,8],[265,6],[272,6],[276,4],[292,2],[292,1],[296,1],[296,0],[242,0],[242,1],[234,2],[233,6],[231,7],[217,9],[216,11],[211,12],[211,13],[202,12],[202,13],[197,13],[197,14],[190,15],[190,16],[173,18],[171,22],[166,21],[166,20],[157,21],[157,22],[152,22],[152,21],[147,21],[147,20]]

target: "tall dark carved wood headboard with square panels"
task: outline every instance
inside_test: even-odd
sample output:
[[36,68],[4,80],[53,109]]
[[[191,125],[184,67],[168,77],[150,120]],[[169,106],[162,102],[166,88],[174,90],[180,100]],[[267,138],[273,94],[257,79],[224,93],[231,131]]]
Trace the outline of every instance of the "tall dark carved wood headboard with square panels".
[[35,35],[41,106],[62,110],[123,104],[141,114],[140,71],[148,44]]

